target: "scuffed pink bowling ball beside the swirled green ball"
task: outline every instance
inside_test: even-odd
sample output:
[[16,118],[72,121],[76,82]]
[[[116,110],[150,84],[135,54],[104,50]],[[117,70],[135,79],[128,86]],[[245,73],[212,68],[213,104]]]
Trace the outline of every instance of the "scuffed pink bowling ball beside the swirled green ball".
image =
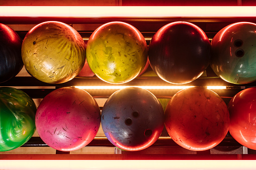
[[100,108],[86,91],[63,87],[49,93],[36,112],[39,136],[50,147],[73,151],[89,144],[101,123]]

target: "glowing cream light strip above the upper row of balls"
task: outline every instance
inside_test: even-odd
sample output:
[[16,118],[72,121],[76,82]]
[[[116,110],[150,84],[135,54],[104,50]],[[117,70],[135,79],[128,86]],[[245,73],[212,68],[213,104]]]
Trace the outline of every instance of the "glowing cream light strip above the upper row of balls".
[[0,6],[0,17],[256,17],[256,6]]

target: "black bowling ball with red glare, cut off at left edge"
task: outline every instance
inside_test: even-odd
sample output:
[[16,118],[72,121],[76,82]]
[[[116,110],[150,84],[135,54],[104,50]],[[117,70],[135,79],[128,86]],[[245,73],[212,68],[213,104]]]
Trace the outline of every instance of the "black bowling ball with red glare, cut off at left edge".
[[13,29],[0,23],[0,83],[21,71],[21,44],[22,39]]

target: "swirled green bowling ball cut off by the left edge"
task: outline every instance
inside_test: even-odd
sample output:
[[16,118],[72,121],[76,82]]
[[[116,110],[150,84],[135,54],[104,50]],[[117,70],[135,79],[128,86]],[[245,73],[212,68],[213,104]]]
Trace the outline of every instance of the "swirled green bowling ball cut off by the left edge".
[[36,105],[19,89],[0,87],[0,151],[26,143],[34,134]]

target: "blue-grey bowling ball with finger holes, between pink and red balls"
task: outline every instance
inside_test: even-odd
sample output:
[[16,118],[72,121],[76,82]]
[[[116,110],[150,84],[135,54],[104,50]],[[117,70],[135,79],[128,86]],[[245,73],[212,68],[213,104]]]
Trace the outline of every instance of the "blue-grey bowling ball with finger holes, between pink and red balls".
[[111,143],[123,150],[137,151],[158,139],[164,127],[164,112],[152,93],[138,87],[127,87],[108,98],[101,121]]

